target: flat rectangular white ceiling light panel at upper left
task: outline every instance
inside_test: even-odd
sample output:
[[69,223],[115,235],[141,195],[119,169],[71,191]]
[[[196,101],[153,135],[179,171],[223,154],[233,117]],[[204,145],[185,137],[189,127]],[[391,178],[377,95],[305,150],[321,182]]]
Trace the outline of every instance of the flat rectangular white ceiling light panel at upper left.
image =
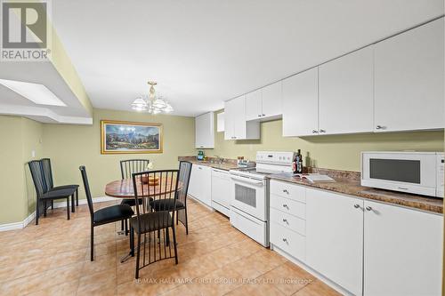
[[39,105],[67,106],[53,92],[44,86],[44,84],[31,84],[7,79],[0,79],[0,84],[3,84],[13,92],[17,92],[20,96],[32,100]]

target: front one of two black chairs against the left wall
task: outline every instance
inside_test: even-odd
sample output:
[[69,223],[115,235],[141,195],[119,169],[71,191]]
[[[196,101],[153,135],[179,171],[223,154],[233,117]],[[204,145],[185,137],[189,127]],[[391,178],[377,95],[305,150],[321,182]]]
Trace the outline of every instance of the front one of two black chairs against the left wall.
[[52,202],[55,199],[67,199],[67,219],[69,220],[69,197],[74,198],[75,189],[65,188],[50,191],[44,182],[44,172],[42,162],[40,160],[32,160],[28,162],[29,171],[36,188],[36,225],[40,217],[40,207],[43,205],[44,217],[46,217],[47,202]]

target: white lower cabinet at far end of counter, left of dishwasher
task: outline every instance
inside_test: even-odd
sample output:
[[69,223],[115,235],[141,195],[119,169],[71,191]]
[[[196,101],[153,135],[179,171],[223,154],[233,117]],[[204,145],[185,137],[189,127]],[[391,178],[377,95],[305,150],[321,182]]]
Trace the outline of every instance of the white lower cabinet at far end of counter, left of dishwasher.
[[191,166],[188,194],[203,204],[212,206],[212,168],[206,165]]

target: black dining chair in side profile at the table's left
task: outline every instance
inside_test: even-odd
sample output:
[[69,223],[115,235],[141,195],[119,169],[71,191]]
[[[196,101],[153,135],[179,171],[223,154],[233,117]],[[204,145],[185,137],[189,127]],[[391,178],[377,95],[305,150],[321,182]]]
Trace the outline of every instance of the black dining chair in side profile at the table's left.
[[84,165],[79,167],[82,174],[82,180],[85,187],[86,202],[88,203],[88,209],[90,210],[91,218],[91,237],[90,237],[90,260],[94,260],[94,228],[104,224],[117,222],[119,220],[127,220],[134,215],[134,212],[128,204],[115,204],[105,208],[101,208],[94,212],[93,198],[91,197],[90,184],[88,183],[88,177],[86,175],[86,169]]

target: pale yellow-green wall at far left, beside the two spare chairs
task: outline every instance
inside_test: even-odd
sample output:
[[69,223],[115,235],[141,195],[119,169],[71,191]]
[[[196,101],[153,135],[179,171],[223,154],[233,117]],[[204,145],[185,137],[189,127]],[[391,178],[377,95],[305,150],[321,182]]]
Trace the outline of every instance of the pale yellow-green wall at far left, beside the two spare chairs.
[[43,155],[43,124],[20,116],[0,116],[0,224],[20,222],[34,211],[36,191],[29,177],[27,162]]

